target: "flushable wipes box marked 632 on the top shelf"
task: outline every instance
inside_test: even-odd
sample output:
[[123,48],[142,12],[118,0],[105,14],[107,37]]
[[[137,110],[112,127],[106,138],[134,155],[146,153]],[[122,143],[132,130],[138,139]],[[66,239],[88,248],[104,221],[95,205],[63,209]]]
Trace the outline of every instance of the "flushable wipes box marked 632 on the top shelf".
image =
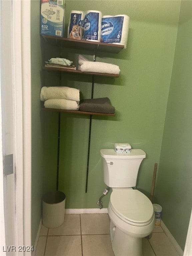
[[64,35],[65,0],[41,0],[40,34]]

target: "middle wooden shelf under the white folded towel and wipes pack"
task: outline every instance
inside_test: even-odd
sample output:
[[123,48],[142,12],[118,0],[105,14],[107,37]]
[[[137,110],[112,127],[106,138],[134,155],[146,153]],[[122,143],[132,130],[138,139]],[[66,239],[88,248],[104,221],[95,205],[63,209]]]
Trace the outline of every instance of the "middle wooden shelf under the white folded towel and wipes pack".
[[76,73],[80,75],[96,75],[96,76],[107,76],[107,77],[119,77],[117,74],[108,74],[108,73],[95,73],[95,72],[82,72],[80,70],[74,70],[74,69],[67,69],[67,68],[54,68],[54,67],[42,67],[44,70],[48,71],[61,71],[61,72],[69,72],[69,73]]

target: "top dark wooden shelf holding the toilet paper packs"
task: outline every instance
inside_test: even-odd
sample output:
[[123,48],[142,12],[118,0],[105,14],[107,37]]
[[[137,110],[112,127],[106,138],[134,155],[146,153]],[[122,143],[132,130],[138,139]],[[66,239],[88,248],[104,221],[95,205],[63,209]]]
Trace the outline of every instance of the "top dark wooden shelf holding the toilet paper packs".
[[65,48],[73,48],[73,49],[82,49],[82,50],[95,50],[99,52],[108,52],[108,53],[119,53],[122,49],[124,49],[124,45],[120,44],[106,44],[100,42],[93,42],[87,40],[76,40],[69,39],[66,37],[59,36],[47,36],[41,35],[46,42],[55,46],[62,46]]

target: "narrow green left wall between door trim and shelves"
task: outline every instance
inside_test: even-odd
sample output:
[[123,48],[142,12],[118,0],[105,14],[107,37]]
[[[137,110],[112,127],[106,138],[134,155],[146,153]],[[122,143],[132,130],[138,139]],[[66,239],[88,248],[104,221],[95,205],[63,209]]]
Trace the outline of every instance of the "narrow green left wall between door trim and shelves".
[[40,2],[31,1],[31,122],[32,122],[32,198],[31,198],[31,242],[34,245],[41,220],[41,197],[43,188],[43,120],[40,113],[41,47],[39,36]]

